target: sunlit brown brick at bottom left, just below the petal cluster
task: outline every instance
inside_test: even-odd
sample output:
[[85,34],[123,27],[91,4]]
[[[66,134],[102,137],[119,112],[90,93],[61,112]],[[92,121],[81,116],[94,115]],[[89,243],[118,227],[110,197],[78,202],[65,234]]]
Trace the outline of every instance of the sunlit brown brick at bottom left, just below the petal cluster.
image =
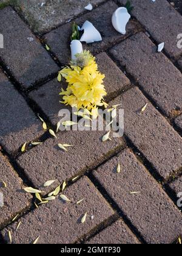
[[[8,230],[12,233],[14,244],[33,243],[39,235],[38,243],[41,244],[75,243],[113,215],[110,205],[86,177],[73,184],[64,194],[72,200],[72,203],[65,204],[57,198],[22,217],[16,235],[17,224],[3,230],[2,235],[7,243],[9,243]],[[76,202],[83,198],[84,201],[76,205]],[[81,218],[86,212],[86,222],[81,224]]]

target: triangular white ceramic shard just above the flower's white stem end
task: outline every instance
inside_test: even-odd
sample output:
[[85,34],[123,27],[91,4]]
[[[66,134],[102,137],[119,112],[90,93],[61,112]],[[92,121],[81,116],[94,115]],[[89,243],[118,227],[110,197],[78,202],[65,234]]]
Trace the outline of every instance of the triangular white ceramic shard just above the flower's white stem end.
[[89,21],[86,21],[83,24],[83,26],[81,27],[81,30],[84,30],[84,34],[80,39],[81,42],[93,43],[93,42],[98,42],[103,40],[101,37],[101,34]]

